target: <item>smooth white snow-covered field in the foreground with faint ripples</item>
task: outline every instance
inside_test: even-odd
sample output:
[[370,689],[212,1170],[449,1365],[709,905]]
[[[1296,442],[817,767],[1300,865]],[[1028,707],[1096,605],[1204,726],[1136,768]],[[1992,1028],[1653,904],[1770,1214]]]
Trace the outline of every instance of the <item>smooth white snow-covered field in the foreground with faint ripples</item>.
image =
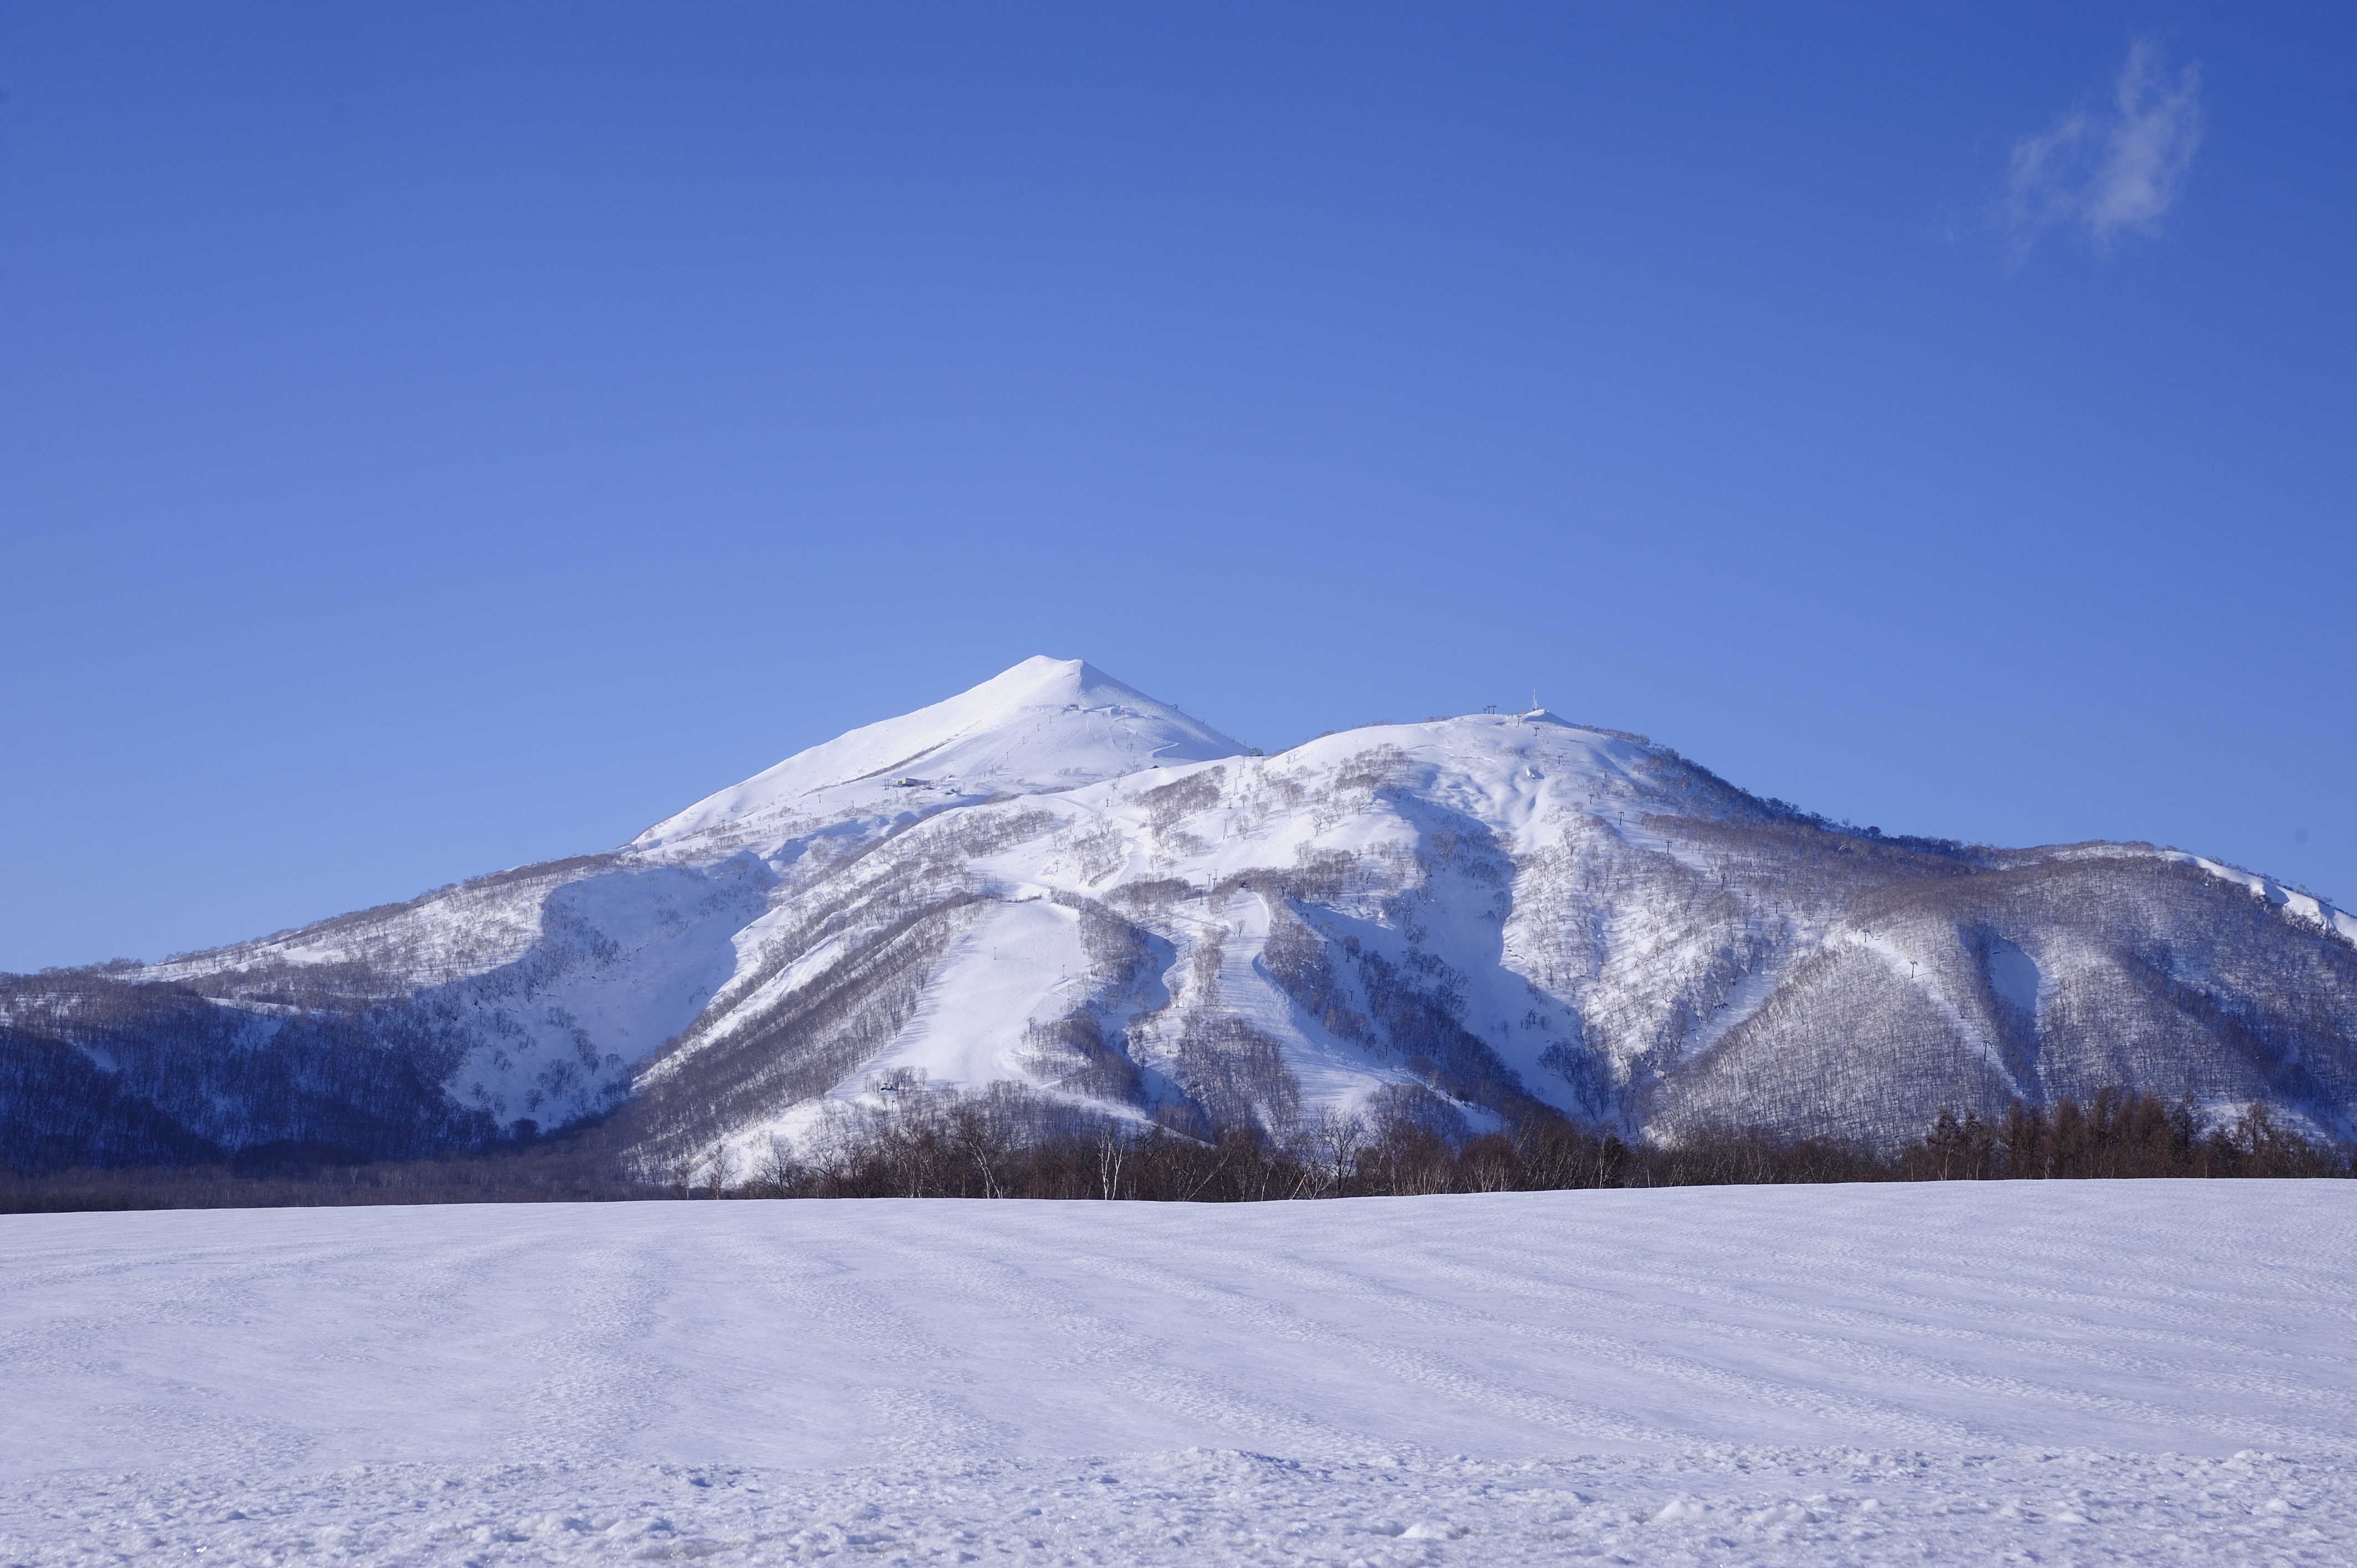
[[2357,1184],[0,1219],[0,1563],[2357,1561]]

